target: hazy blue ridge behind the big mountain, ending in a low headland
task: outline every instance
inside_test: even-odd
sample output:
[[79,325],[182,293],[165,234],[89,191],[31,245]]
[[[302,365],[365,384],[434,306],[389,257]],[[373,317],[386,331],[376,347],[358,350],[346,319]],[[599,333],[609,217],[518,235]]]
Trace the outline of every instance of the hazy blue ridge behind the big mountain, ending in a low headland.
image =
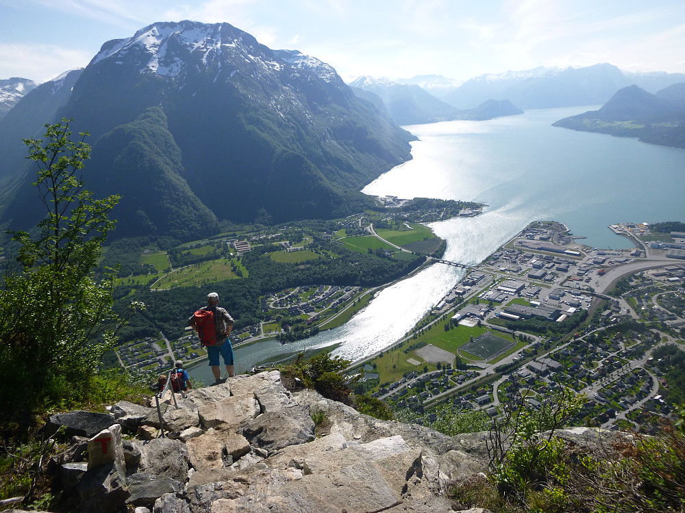
[[[397,124],[424,124],[449,120],[488,120],[523,114],[508,100],[488,100],[475,109],[457,109],[438,100],[416,84],[401,84],[388,79],[359,77],[349,84],[360,98],[382,105]],[[375,96],[380,101],[375,99]]]

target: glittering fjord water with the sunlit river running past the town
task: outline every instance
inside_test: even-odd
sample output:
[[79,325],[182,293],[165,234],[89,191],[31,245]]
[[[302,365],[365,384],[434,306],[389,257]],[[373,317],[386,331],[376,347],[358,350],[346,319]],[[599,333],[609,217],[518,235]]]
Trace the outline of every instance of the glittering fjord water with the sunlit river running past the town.
[[[399,198],[472,200],[487,205],[475,218],[431,225],[447,240],[445,258],[476,264],[533,220],[563,222],[597,248],[631,248],[607,226],[685,220],[685,150],[634,139],[552,127],[596,107],[540,109],[490,121],[406,127],[419,137],[413,159],[363,192]],[[336,345],[358,360],[392,345],[456,285],[463,272],[432,265],[384,289],[344,326],[282,345],[260,342],[236,350],[236,370],[303,350]],[[206,365],[191,372],[210,380]]]

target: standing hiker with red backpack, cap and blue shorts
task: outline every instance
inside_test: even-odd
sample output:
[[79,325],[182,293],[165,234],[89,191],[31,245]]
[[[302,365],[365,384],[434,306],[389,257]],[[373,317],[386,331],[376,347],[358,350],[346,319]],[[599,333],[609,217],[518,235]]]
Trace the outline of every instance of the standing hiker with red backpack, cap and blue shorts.
[[210,292],[207,295],[207,306],[200,308],[188,319],[188,326],[197,331],[202,345],[210,358],[210,367],[214,374],[215,383],[221,382],[219,370],[219,355],[223,356],[223,363],[229,378],[236,375],[233,361],[233,346],[228,338],[233,329],[233,317],[219,304],[219,294]]

